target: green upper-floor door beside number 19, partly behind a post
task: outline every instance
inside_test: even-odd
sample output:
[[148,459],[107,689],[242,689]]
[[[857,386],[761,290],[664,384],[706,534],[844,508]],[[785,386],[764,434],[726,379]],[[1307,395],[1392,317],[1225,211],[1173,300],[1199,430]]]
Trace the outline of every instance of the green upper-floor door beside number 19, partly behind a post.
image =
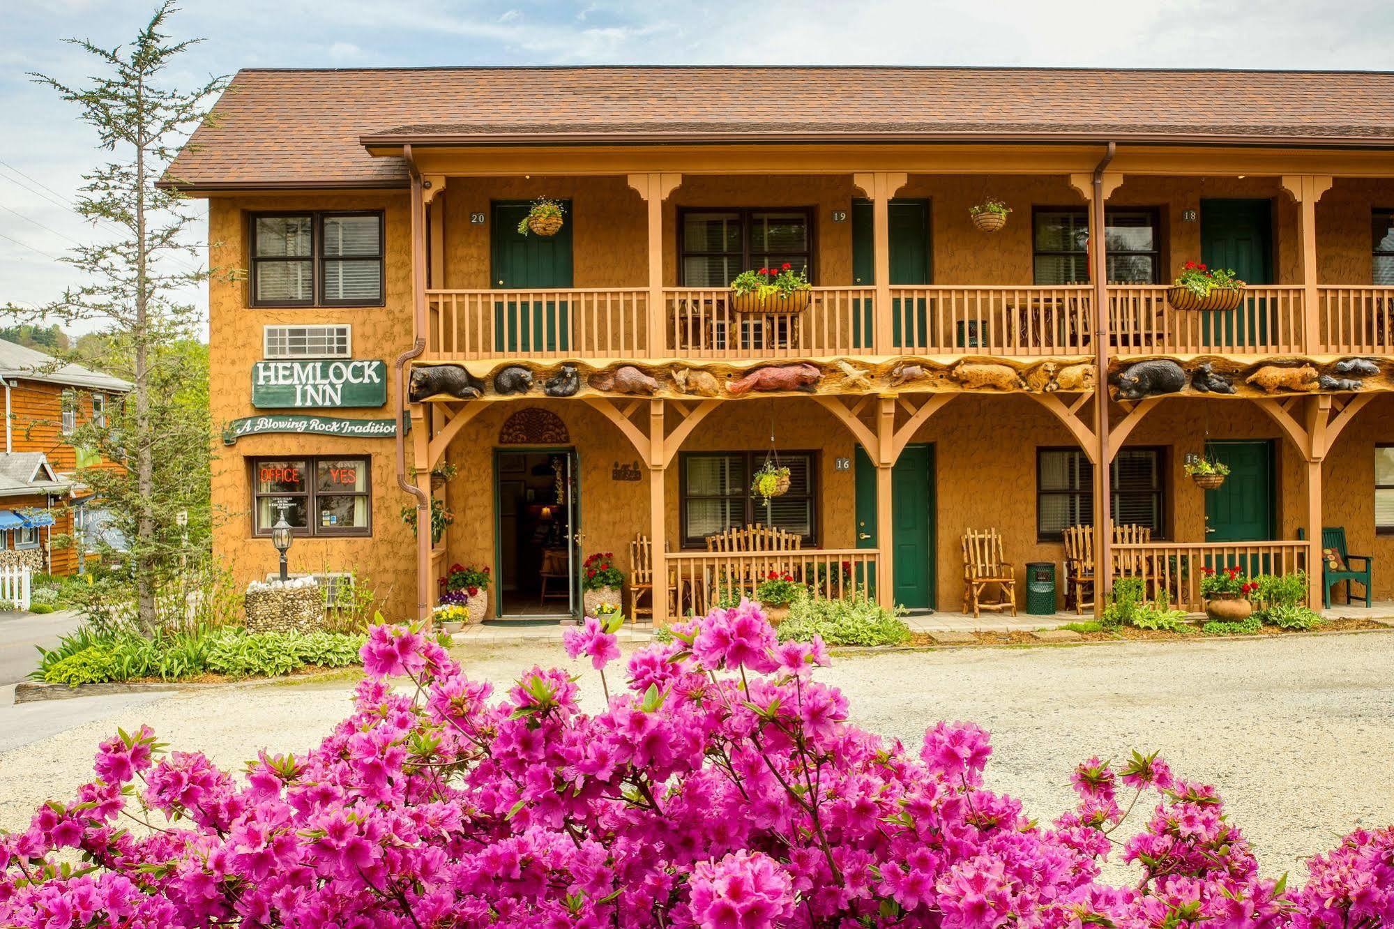
[[[927,285],[930,283],[930,201],[927,199],[892,199],[889,204],[891,220],[891,283],[892,285]],[[852,283],[870,287],[875,283],[875,216],[870,199],[852,201]],[[899,300],[892,301],[894,345],[906,345],[901,333],[910,332],[912,345],[928,345],[928,317],[926,301],[916,300],[912,305],[902,307]],[[852,308],[853,346],[857,349],[870,347],[875,325],[871,312],[853,304]]]

